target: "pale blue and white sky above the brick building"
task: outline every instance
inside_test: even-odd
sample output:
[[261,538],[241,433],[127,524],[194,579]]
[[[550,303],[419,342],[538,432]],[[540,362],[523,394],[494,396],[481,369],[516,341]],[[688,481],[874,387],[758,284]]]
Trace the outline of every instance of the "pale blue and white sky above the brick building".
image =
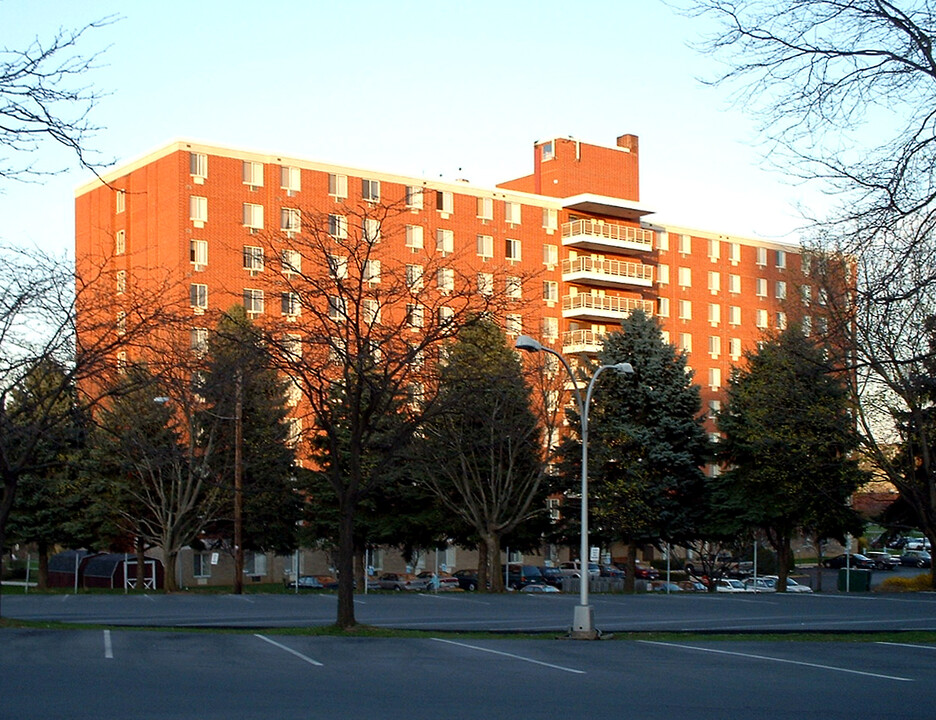
[[[690,44],[710,31],[661,0],[0,0],[0,46],[115,16],[79,49],[104,94],[89,146],[123,163],[176,139],[493,187],[532,172],[533,143],[640,138],[652,222],[796,241],[807,189]],[[4,153],[0,149],[0,156]],[[0,185],[0,242],[68,252],[68,169]]]

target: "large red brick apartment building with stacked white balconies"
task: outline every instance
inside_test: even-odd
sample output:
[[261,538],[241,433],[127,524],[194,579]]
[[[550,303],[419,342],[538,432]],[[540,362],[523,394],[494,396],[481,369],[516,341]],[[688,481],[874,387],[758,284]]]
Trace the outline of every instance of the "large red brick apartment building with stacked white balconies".
[[501,318],[508,333],[566,355],[595,353],[641,308],[688,353],[704,402],[717,407],[743,351],[786,322],[788,305],[797,317],[809,312],[801,255],[654,224],[639,205],[639,159],[633,135],[614,147],[554,138],[534,144],[532,174],[484,188],[174,142],[76,191],[78,272],[113,273],[115,314],[128,282],[173,276],[176,290],[163,299],[190,316],[198,345],[211,313],[234,303],[257,317],[292,312],[285,294],[264,290],[262,276],[285,260],[264,262],[261,234],[290,236],[312,208],[339,237],[357,209],[389,202],[401,208],[398,227],[377,231],[400,261],[448,254],[464,276],[477,274],[479,292],[490,268],[506,268],[508,286],[511,268],[526,278],[508,288],[524,300],[522,313]]

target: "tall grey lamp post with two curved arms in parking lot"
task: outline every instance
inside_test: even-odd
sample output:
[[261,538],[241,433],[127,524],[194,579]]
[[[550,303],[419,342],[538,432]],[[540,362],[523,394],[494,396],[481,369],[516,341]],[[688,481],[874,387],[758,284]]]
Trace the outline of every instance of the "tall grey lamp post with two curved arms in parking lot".
[[592,391],[595,389],[595,381],[605,370],[616,370],[621,375],[633,375],[634,368],[630,363],[615,363],[614,365],[602,365],[595,374],[592,375],[588,383],[588,389],[585,392],[585,399],[582,399],[582,393],[579,390],[578,383],[575,380],[575,374],[569,363],[561,353],[546,347],[538,340],[529,335],[521,335],[517,338],[515,347],[518,350],[527,352],[547,352],[559,358],[569,379],[572,380],[572,388],[575,391],[575,404],[578,408],[579,418],[581,419],[581,438],[582,438],[582,518],[581,518],[581,545],[579,547],[579,604],[575,607],[575,613],[572,616],[572,637],[581,640],[592,640],[597,637],[595,630],[595,613],[591,605],[588,604],[588,584],[589,584],[589,553],[588,553],[588,407],[591,404]]

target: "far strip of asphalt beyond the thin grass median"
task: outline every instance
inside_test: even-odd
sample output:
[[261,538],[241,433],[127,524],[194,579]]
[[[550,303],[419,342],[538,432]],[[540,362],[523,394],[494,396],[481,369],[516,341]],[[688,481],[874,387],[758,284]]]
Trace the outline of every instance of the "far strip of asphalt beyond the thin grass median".
[[[936,593],[592,595],[596,627],[625,631],[936,631]],[[435,631],[568,630],[577,596],[392,593],[358,596],[358,622]],[[5,617],[158,627],[310,627],[335,621],[334,594],[12,595]]]

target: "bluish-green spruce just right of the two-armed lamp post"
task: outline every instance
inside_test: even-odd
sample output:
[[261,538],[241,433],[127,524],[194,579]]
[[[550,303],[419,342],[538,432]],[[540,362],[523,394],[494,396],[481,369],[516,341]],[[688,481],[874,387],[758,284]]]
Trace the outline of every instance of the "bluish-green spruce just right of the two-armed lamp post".
[[[599,541],[628,543],[632,589],[638,545],[699,532],[708,440],[686,357],[664,342],[655,319],[631,313],[605,338],[598,362],[629,362],[635,371],[602,374],[589,412],[590,530]],[[578,414],[572,417],[579,427]],[[567,476],[581,472],[580,439],[570,438],[563,455]]]

